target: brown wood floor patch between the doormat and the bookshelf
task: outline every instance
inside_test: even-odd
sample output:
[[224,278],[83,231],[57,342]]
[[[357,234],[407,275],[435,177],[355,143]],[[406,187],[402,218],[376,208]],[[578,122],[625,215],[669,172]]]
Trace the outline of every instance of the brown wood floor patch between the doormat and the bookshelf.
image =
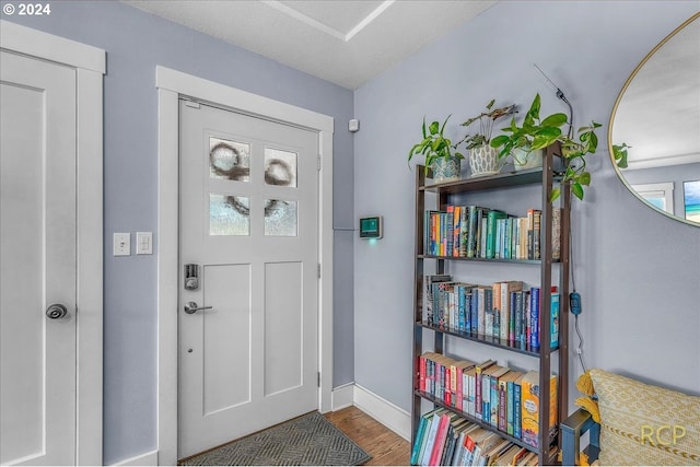
[[372,456],[365,465],[410,464],[410,443],[357,407],[329,412],[325,417]]

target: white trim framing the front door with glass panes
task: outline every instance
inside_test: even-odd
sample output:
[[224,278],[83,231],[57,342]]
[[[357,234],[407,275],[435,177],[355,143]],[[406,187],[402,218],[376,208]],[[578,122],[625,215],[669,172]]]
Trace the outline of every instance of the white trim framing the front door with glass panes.
[[322,412],[331,408],[332,390],[332,131],[334,119],[305,108],[262,97],[165,67],[155,69],[159,96],[159,465],[177,464],[177,279],[178,145],[180,95],[223,105],[318,131],[319,179],[319,367]]

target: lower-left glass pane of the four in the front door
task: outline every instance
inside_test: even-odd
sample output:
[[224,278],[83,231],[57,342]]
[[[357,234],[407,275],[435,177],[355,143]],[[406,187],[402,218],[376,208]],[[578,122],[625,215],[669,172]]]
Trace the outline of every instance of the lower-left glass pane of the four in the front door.
[[209,195],[210,235],[250,235],[250,199]]

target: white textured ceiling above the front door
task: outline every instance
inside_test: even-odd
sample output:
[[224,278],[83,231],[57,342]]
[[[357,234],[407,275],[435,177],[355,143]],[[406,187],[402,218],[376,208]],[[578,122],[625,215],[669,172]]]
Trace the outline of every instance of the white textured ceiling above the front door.
[[125,3],[354,90],[495,1],[125,0]]

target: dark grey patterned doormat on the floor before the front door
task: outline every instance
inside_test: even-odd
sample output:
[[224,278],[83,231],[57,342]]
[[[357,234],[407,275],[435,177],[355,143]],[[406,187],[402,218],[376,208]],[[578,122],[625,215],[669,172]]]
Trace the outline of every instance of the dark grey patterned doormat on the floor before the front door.
[[311,412],[179,463],[184,466],[355,466],[371,456]]

